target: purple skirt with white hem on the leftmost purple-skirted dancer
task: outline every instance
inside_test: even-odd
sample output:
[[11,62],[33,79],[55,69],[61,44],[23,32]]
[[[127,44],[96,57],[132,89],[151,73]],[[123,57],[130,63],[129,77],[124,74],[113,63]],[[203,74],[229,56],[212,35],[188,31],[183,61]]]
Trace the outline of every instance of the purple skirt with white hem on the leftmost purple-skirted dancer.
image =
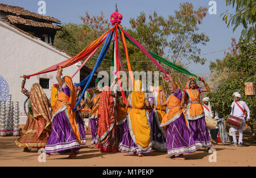
[[46,143],[46,153],[75,149],[80,150],[79,142],[73,132],[65,110],[53,118],[53,126]]

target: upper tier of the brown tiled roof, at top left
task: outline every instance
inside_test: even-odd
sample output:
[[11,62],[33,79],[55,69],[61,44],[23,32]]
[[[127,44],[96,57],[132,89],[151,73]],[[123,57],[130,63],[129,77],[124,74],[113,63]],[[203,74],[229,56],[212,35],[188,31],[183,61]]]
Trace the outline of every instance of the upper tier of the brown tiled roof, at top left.
[[24,9],[23,7],[5,5],[4,3],[0,3],[0,11],[4,11],[6,13],[11,13],[19,16],[31,16],[37,19],[47,20],[48,22],[53,22],[53,23],[60,22],[59,19],[55,19],[51,16],[44,16],[44,15],[32,13],[31,11]]

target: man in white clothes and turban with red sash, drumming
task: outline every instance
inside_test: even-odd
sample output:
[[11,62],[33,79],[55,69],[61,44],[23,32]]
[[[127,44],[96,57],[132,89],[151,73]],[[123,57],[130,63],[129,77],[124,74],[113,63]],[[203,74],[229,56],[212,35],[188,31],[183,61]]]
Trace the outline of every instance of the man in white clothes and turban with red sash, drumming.
[[239,133],[238,146],[242,147],[243,128],[245,127],[245,117],[246,117],[245,110],[247,111],[246,122],[248,122],[250,119],[250,109],[244,101],[240,101],[240,98],[241,98],[240,93],[235,92],[235,93],[233,93],[233,96],[234,96],[234,101],[231,105],[232,110],[231,110],[230,115],[241,118],[243,120],[243,123],[242,123],[241,127],[237,127],[237,126],[233,126],[233,125],[231,126],[233,142],[232,142],[232,144],[230,144],[230,146],[237,146],[236,132],[238,132]]

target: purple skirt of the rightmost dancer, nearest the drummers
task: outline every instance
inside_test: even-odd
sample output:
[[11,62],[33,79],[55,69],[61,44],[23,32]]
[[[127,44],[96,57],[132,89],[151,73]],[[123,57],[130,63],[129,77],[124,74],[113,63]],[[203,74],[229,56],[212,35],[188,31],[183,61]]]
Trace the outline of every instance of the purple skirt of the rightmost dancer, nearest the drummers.
[[195,146],[197,148],[211,147],[212,142],[210,142],[209,131],[207,130],[204,117],[196,120],[188,120],[188,122],[192,138],[195,140]]

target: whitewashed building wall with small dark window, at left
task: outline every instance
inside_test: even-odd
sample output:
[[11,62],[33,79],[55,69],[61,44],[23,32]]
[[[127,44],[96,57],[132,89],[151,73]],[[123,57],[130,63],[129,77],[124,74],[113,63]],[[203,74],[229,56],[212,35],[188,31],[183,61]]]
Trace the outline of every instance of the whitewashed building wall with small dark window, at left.
[[[34,74],[69,58],[70,56],[66,53],[60,52],[51,45],[31,38],[6,23],[0,22],[0,75],[8,82],[14,105],[16,101],[19,101],[19,124],[25,124],[27,119],[23,109],[27,97],[21,93],[20,86],[23,78],[20,76]],[[72,76],[77,69],[77,65],[64,68],[63,75]],[[56,71],[54,71],[27,79],[25,88],[30,90],[32,84],[39,83],[39,77],[50,78],[51,86],[57,83]],[[73,82],[79,81],[80,73],[78,72],[73,77]],[[44,92],[50,98],[51,89],[44,89]]]

